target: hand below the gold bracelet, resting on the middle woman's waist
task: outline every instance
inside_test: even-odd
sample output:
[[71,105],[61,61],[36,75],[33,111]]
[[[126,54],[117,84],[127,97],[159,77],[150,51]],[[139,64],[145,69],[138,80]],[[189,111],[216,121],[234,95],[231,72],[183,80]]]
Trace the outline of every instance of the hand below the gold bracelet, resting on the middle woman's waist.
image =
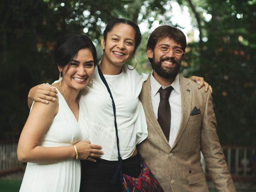
[[90,141],[79,141],[76,144],[78,159],[96,162],[94,158],[100,158],[104,152],[102,146],[91,144]]

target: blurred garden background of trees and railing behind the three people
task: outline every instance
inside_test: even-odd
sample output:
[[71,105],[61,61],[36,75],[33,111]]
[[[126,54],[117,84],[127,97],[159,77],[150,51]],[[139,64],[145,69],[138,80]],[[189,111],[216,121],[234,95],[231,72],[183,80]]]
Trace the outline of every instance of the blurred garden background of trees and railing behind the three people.
[[100,59],[102,33],[116,17],[140,27],[139,73],[151,71],[146,42],[156,27],[168,24],[186,34],[181,73],[202,76],[213,87],[230,172],[241,191],[256,191],[256,0],[1,0],[0,190],[20,186],[22,171],[8,175],[24,167],[16,160],[16,145],[29,113],[27,95],[33,86],[58,79],[52,61],[58,38],[86,34]]

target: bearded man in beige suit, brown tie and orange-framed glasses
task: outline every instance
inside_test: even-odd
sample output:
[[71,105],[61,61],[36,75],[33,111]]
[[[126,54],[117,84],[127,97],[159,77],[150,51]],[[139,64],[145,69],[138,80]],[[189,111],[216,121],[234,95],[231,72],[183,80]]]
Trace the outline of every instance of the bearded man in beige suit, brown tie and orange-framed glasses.
[[[140,94],[148,138],[138,150],[165,192],[208,191],[200,150],[218,191],[235,192],[216,133],[211,93],[198,90],[198,84],[178,74],[185,48],[186,37],[177,28],[160,26],[150,35],[147,53],[153,72]],[[166,134],[158,122],[162,116],[159,90],[170,86],[170,130]]]

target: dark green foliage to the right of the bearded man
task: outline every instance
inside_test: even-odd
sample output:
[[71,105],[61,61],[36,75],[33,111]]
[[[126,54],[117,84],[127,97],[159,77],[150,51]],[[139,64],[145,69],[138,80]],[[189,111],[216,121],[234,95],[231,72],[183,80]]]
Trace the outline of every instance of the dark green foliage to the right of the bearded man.
[[192,74],[203,76],[214,88],[222,144],[256,145],[256,4],[249,2],[200,4],[202,12],[212,15],[203,25],[208,40],[202,46],[190,44],[192,51],[186,54],[187,62],[199,69]]

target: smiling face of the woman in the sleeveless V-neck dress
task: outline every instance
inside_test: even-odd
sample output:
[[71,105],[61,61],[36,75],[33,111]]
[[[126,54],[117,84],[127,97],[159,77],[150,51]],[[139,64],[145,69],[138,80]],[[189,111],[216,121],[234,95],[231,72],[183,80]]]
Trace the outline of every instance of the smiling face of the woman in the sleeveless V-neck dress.
[[63,74],[63,86],[81,90],[90,82],[94,73],[92,52],[87,48],[81,49],[69,64],[64,68],[58,66],[58,69]]

